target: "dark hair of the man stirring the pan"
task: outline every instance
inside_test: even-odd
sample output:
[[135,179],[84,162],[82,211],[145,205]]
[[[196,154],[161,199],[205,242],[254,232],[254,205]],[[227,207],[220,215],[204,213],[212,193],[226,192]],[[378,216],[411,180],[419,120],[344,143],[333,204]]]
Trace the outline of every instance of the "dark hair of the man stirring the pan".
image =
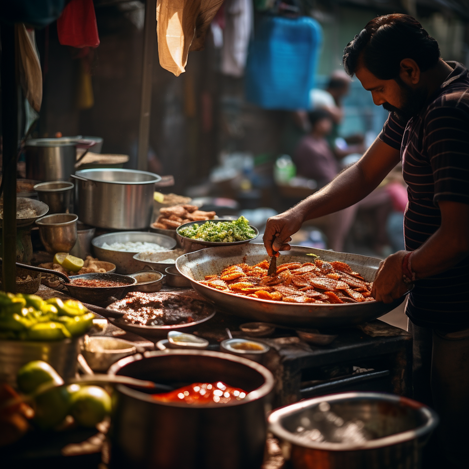
[[371,20],[344,49],[348,75],[356,72],[360,55],[364,66],[380,80],[399,76],[403,59],[413,59],[424,72],[436,65],[438,43],[412,16],[393,13]]

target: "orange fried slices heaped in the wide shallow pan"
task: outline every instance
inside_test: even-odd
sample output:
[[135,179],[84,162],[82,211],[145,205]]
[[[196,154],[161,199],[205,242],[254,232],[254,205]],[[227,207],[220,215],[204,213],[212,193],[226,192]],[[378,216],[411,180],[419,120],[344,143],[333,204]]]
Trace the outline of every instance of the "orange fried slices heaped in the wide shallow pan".
[[361,303],[374,301],[372,282],[341,261],[290,262],[277,267],[273,276],[267,275],[269,261],[256,265],[228,265],[219,275],[207,275],[199,283],[227,293],[249,296],[266,301],[285,303]]

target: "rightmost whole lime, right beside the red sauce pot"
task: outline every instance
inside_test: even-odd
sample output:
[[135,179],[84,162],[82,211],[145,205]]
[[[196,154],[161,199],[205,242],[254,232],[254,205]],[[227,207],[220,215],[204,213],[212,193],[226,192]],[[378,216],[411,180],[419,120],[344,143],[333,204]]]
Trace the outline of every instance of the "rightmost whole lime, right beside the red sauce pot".
[[111,397],[99,386],[83,386],[71,397],[70,414],[83,427],[94,427],[111,413]]

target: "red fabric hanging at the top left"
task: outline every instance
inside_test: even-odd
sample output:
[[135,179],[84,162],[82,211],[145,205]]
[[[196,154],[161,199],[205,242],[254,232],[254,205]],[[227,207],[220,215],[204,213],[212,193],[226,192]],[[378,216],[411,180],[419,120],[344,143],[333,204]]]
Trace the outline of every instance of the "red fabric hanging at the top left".
[[98,47],[98,25],[93,0],[71,0],[57,20],[61,45]]

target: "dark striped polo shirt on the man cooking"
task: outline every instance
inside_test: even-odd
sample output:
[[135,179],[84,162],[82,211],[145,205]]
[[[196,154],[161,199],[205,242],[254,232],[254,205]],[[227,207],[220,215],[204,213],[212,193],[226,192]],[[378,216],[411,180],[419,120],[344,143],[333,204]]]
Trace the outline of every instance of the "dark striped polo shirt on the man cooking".
[[[441,225],[441,200],[469,204],[469,72],[453,72],[429,104],[407,123],[393,113],[380,140],[401,151],[408,184],[404,216],[406,250],[421,246]],[[416,325],[446,330],[469,326],[469,257],[446,272],[417,280],[406,314]]]

